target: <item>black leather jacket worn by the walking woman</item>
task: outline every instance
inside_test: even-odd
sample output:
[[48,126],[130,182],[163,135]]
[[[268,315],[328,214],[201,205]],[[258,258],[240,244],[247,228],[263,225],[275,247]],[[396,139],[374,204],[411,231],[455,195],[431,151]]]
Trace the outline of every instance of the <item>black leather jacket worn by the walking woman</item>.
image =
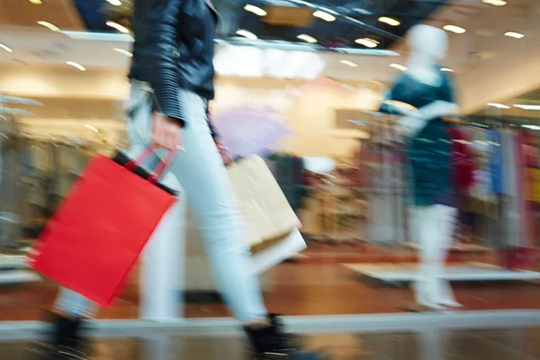
[[210,0],[135,0],[130,77],[148,81],[160,112],[188,121],[178,89],[214,96],[213,38],[218,14]]

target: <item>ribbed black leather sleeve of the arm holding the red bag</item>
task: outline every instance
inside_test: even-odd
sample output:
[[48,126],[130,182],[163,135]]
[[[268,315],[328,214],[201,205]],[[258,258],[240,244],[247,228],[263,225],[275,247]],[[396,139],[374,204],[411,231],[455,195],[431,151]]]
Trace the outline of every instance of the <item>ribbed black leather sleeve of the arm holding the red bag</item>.
[[176,22],[184,0],[148,0],[148,60],[153,67],[149,82],[156,94],[157,111],[184,124],[184,106],[178,96],[179,78]]

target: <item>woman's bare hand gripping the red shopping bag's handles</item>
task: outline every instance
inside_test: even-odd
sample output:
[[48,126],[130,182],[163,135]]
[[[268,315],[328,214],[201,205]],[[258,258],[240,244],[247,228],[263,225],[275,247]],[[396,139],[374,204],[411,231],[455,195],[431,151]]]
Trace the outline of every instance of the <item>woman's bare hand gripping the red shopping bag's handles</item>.
[[152,118],[152,143],[168,151],[184,151],[182,125],[176,119],[158,112],[154,112]]

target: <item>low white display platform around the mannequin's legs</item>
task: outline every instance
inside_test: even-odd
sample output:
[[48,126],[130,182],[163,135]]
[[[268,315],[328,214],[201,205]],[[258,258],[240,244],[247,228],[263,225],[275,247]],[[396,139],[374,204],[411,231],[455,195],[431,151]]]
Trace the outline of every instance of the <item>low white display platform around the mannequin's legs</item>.
[[[417,279],[416,264],[341,264],[360,275],[383,282],[409,282]],[[510,271],[500,266],[466,262],[446,266],[445,278],[450,281],[539,280],[540,273],[527,270]]]

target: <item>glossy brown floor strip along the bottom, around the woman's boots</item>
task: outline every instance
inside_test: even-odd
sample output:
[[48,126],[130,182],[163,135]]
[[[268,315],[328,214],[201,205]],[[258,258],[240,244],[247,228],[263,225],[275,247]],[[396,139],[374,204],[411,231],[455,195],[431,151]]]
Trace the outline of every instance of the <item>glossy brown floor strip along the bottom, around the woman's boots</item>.
[[[534,360],[540,328],[426,331],[392,334],[332,333],[302,336],[305,347],[326,349],[329,360]],[[31,360],[28,343],[0,342],[0,359]],[[91,360],[242,360],[242,338],[183,338],[155,333],[93,340]]]

